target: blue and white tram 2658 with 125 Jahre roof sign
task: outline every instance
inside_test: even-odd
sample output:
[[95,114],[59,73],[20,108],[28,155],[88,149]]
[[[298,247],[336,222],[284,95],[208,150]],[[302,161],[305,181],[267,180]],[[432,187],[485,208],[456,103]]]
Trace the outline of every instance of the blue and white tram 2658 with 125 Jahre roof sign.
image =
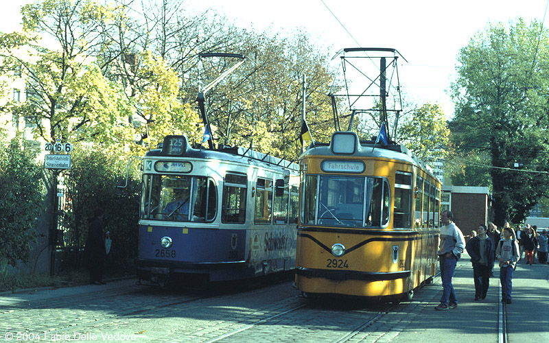
[[294,270],[297,165],[167,136],[143,158],[140,280],[229,281]]

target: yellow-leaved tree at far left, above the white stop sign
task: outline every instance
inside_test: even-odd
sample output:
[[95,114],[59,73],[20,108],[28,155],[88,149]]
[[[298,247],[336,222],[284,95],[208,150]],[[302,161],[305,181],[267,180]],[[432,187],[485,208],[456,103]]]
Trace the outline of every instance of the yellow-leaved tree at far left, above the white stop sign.
[[89,55],[108,10],[89,0],[43,0],[21,13],[23,31],[1,35],[0,48],[4,68],[22,69],[27,101],[7,110],[33,123],[45,141],[127,142],[123,93]]

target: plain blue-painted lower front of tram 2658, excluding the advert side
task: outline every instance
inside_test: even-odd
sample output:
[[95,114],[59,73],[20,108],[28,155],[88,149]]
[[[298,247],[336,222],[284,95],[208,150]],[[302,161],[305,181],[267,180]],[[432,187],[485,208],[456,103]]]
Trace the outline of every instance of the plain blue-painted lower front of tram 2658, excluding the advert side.
[[[170,248],[161,246],[163,237],[172,239]],[[142,225],[136,264],[143,279],[168,270],[170,275],[207,274],[210,281],[244,279],[254,272],[246,265],[246,230]]]

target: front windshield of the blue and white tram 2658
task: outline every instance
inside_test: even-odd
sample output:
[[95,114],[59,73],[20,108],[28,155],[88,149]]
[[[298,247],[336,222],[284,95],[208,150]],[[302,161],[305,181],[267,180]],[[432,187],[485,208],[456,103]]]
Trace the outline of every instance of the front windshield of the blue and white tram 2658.
[[215,218],[217,192],[211,178],[144,175],[141,219],[210,222]]

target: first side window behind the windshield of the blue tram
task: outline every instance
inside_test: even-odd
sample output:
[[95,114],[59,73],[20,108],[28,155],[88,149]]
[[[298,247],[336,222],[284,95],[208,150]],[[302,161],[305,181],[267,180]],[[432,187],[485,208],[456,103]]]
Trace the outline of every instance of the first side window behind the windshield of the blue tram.
[[246,222],[247,182],[245,175],[225,175],[221,205],[221,221],[223,223],[244,224]]

